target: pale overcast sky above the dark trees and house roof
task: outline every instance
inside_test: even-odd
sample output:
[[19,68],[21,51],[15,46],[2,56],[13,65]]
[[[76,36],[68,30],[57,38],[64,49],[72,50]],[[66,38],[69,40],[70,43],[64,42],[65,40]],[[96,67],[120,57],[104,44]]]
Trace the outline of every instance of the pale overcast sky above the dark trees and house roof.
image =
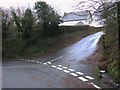
[[[40,0],[0,0],[1,6],[5,8],[9,7],[27,7],[28,4],[33,8],[34,3]],[[78,1],[83,0],[41,0],[45,1],[52,7],[54,7],[59,14],[63,14],[64,12],[71,12],[75,10],[75,5]]]

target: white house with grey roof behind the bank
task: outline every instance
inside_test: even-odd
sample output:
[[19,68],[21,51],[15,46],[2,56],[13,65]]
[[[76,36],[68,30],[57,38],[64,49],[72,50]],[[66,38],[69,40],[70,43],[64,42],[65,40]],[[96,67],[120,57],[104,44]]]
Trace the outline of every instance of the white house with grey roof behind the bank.
[[65,13],[62,17],[63,23],[59,26],[80,26],[90,25],[92,17],[90,11],[70,12]]

